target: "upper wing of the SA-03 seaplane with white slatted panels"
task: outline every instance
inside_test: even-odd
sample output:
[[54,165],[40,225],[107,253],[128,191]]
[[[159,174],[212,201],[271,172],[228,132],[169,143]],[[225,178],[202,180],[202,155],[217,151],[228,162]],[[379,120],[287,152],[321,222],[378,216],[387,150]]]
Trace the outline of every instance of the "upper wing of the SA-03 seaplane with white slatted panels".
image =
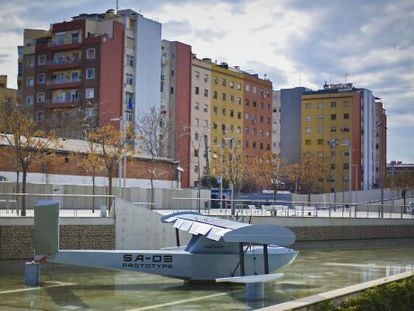
[[193,235],[203,235],[208,239],[225,242],[253,244],[291,245],[295,234],[288,228],[273,225],[250,225],[238,221],[205,216],[195,212],[177,212],[161,218],[164,223]]

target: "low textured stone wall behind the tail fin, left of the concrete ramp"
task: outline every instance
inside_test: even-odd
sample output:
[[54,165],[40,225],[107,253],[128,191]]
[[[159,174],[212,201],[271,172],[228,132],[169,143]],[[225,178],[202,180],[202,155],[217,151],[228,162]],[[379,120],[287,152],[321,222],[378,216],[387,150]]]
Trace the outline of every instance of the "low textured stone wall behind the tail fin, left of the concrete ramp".
[[[33,257],[33,218],[0,218],[0,260]],[[115,249],[113,219],[61,219],[61,249]]]

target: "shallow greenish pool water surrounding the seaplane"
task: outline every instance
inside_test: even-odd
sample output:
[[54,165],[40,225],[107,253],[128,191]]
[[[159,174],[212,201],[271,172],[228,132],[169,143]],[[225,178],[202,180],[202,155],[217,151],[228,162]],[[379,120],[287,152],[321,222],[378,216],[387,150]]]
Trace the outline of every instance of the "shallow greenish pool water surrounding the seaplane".
[[412,246],[303,250],[281,280],[266,284],[265,300],[253,303],[242,285],[52,264],[42,266],[41,289],[25,290],[24,263],[0,261],[0,309],[250,310],[412,270]]

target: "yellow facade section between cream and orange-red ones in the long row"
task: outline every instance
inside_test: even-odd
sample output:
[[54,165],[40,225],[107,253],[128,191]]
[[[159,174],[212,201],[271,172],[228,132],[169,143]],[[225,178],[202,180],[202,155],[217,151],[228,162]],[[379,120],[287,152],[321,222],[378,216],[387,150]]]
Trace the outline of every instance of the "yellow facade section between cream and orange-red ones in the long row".
[[243,88],[243,74],[239,70],[226,63],[212,64],[210,137],[213,176],[221,173],[224,150],[232,148],[233,153],[242,153]]

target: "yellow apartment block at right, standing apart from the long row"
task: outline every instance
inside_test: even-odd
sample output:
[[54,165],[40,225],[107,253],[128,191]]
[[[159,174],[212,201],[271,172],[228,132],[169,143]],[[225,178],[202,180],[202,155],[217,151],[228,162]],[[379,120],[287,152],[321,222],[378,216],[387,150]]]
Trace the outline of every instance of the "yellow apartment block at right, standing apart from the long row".
[[323,192],[355,189],[360,178],[355,175],[360,167],[353,165],[361,162],[360,93],[345,86],[302,95],[302,159],[315,157],[325,164],[315,186]]

